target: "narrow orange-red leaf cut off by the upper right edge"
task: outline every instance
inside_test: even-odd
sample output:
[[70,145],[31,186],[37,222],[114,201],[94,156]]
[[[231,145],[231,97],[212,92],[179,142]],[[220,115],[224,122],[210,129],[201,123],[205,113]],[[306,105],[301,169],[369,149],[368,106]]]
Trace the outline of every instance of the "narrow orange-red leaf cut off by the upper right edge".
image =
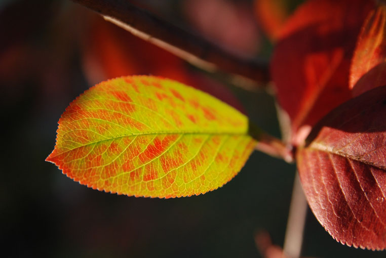
[[[386,6],[379,3],[369,13],[358,37],[350,74],[350,88],[354,96],[386,84],[383,69],[386,61],[385,23]],[[368,74],[369,71],[371,73]]]

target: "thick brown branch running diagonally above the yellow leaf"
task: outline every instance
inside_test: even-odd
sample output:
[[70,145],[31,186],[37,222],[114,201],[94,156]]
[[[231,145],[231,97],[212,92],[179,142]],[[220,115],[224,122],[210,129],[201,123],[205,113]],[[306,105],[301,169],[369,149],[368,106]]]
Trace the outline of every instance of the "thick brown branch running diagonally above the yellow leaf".
[[124,27],[133,34],[208,71],[217,69],[234,74],[232,80],[248,78],[254,84],[269,80],[267,65],[232,55],[211,42],[164,21],[128,0],[72,0],[88,7],[105,19]]

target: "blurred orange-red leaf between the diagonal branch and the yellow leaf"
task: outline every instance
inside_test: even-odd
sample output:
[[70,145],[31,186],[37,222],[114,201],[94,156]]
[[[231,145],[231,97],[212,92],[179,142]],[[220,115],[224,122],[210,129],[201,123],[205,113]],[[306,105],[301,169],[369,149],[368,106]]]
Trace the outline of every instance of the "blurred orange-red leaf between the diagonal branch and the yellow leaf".
[[[93,75],[106,80],[151,72],[178,81],[187,80],[187,71],[180,58],[105,21],[99,15],[90,17],[90,28],[84,36],[84,66],[92,65],[91,69],[86,69],[89,77]],[[100,75],[92,74],[94,66],[101,71]]]

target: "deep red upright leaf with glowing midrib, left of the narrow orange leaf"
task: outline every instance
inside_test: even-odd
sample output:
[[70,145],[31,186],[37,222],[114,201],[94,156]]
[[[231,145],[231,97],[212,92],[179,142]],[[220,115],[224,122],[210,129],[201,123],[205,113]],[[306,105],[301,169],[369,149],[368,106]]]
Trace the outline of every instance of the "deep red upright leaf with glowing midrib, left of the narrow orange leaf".
[[287,138],[292,144],[301,145],[304,128],[351,98],[351,57],[373,5],[365,0],[308,1],[284,25],[271,71],[278,102],[291,120]]

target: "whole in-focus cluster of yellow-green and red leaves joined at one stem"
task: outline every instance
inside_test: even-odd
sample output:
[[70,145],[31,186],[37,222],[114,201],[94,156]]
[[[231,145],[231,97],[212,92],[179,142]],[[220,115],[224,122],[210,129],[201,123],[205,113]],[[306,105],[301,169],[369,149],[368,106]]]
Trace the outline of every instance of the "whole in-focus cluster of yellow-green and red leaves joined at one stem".
[[270,72],[289,118],[282,141],[186,85],[125,76],[69,105],[47,160],[94,189],[169,198],[222,186],[257,148],[296,160],[308,204],[334,239],[384,249],[386,6],[310,0],[279,18]]

